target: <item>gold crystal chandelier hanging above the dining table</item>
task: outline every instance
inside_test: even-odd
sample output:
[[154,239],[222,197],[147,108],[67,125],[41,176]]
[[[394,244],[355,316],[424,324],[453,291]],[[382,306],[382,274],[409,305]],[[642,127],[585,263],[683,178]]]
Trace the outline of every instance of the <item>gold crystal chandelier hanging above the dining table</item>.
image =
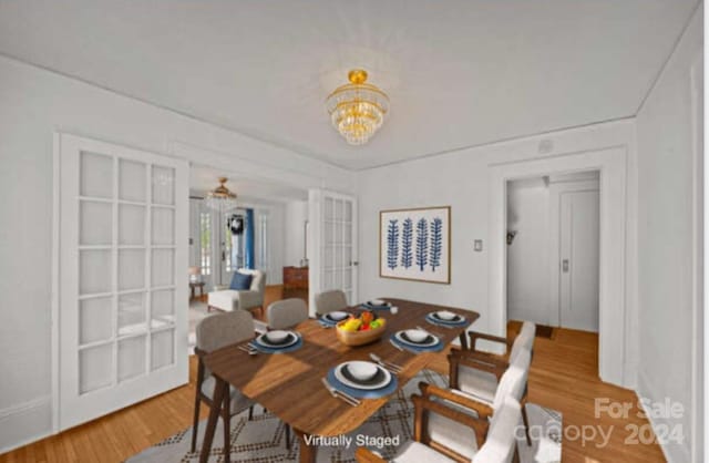
[[381,127],[389,111],[389,96],[364,83],[367,71],[354,69],[350,83],[339,86],[326,101],[332,126],[350,145],[362,145]]

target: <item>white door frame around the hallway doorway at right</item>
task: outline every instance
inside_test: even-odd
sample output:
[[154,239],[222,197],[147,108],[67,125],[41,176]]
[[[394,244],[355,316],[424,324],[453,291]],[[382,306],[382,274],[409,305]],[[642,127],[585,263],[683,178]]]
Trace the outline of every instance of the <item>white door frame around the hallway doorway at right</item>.
[[598,373],[603,381],[633,385],[626,374],[626,216],[627,148],[624,145],[489,166],[490,329],[505,336],[507,326],[505,241],[507,182],[549,174],[599,171]]

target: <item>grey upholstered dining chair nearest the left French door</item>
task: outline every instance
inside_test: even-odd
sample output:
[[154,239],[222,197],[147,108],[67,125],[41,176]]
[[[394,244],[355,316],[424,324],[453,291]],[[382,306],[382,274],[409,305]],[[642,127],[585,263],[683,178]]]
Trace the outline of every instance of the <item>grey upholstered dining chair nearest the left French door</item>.
[[[226,313],[215,313],[206,317],[197,323],[196,328],[197,346],[195,353],[198,357],[197,363],[197,388],[195,393],[195,415],[192,428],[192,452],[197,444],[197,431],[199,426],[199,405],[205,402],[208,407],[214,407],[212,400],[216,380],[204,366],[203,358],[207,353],[223,347],[243,342],[254,337],[254,318],[246,310],[236,310]],[[237,413],[249,409],[249,420],[253,418],[255,402],[242,394],[237,389],[229,390],[229,409],[224,410],[224,442],[227,451],[230,433],[229,420]]]

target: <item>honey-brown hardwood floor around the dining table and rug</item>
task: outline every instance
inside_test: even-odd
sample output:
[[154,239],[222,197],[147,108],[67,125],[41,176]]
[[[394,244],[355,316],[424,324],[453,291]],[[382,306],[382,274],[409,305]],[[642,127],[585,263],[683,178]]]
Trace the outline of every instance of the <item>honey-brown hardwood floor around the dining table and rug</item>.
[[[270,287],[267,301],[282,297],[282,288]],[[520,325],[511,322],[508,335],[514,336]],[[594,400],[608,398],[616,402],[637,402],[633,391],[605,384],[597,378],[596,335],[555,329],[552,339],[536,338],[534,359],[530,373],[530,401],[563,413],[565,438],[564,462],[662,462],[658,445],[626,445],[630,435],[628,425],[643,425],[647,421],[637,418],[637,408],[628,419],[594,416]],[[189,384],[117,411],[84,425],[44,439],[10,453],[0,455],[0,463],[16,462],[121,462],[154,445],[169,435],[192,425],[194,380],[196,361],[189,359]],[[445,357],[441,354],[431,368],[448,371]],[[203,408],[203,418],[208,410]],[[610,439],[605,446],[598,434],[582,442],[569,433],[574,426],[603,426]]]

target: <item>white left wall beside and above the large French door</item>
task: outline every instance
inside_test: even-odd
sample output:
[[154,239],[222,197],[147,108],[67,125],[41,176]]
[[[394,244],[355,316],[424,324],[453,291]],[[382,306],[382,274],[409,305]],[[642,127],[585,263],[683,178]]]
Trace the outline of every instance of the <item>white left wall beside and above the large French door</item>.
[[55,131],[301,188],[352,191],[343,169],[0,58],[0,453],[51,432]]

